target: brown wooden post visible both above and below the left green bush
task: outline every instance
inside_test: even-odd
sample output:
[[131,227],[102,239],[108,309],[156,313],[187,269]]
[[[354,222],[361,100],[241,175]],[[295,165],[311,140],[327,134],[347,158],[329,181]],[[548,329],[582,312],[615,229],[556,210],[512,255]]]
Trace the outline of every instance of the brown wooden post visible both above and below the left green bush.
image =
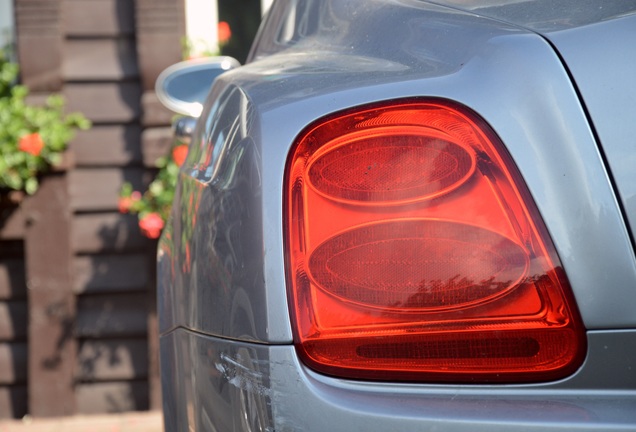
[[[15,0],[21,81],[32,94],[62,89],[61,0]],[[28,287],[29,414],[75,412],[75,298],[70,274],[70,211],[66,175],[43,179],[25,200]]]

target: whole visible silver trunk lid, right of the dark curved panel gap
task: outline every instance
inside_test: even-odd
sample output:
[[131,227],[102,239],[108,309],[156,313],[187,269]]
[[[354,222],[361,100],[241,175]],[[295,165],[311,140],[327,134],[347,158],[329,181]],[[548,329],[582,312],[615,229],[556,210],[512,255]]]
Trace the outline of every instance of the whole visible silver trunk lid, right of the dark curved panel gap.
[[598,134],[599,149],[615,182],[634,245],[636,1],[440,0],[436,3],[528,28],[554,46]]

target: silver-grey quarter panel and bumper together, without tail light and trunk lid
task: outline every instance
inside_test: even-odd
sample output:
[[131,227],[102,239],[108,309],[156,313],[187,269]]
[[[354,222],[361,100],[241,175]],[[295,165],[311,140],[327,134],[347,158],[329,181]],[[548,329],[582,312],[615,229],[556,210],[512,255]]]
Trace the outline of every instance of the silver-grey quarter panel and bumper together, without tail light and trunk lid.
[[[286,15],[293,4],[297,15]],[[258,41],[254,62],[213,87],[202,116],[210,120],[199,122],[177,191],[186,211],[160,244],[169,429],[250,430],[252,419],[261,430],[322,430],[326,418],[330,430],[347,431],[635,430],[636,333],[617,329],[636,327],[636,260],[586,112],[550,44],[411,0],[279,1]],[[572,377],[524,386],[365,383],[299,364],[283,249],[289,148],[319,117],[413,97],[464,104],[507,146],[595,330]],[[208,136],[218,145],[200,167]]]

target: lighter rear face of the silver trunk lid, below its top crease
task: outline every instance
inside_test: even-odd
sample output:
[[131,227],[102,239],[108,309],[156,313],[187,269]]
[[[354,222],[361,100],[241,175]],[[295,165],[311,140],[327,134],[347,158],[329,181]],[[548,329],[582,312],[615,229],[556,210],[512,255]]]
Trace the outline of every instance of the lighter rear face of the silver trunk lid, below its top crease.
[[[636,2],[632,2],[636,9]],[[636,228],[636,14],[548,38],[572,73],[625,209]],[[621,67],[615,65],[620,64]],[[636,290],[636,286],[632,286]]]

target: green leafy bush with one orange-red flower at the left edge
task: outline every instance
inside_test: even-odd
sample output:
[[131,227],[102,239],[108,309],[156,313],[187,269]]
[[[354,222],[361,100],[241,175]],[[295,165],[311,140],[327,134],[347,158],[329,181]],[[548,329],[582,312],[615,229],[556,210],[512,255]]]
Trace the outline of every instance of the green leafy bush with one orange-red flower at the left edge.
[[76,129],[88,129],[81,114],[64,114],[64,100],[49,96],[44,106],[26,103],[16,84],[18,66],[0,51],[0,188],[33,194],[38,175],[59,165]]

